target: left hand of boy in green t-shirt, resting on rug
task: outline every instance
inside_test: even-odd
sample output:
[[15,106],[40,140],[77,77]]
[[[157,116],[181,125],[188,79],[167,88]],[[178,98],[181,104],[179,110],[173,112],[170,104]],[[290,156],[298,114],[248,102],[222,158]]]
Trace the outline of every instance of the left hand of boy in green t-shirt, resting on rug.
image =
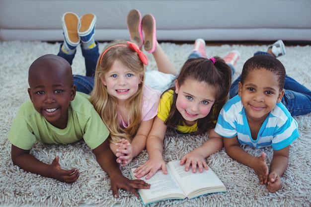
[[52,164],[50,165],[49,172],[51,178],[55,178],[59,181],[66,182],[66,183],[74,183],[80,173],[77,168],[72,168],[70,170],[63,170],[61,165],[59,164],[59,156],[56,156],[53,160]]

